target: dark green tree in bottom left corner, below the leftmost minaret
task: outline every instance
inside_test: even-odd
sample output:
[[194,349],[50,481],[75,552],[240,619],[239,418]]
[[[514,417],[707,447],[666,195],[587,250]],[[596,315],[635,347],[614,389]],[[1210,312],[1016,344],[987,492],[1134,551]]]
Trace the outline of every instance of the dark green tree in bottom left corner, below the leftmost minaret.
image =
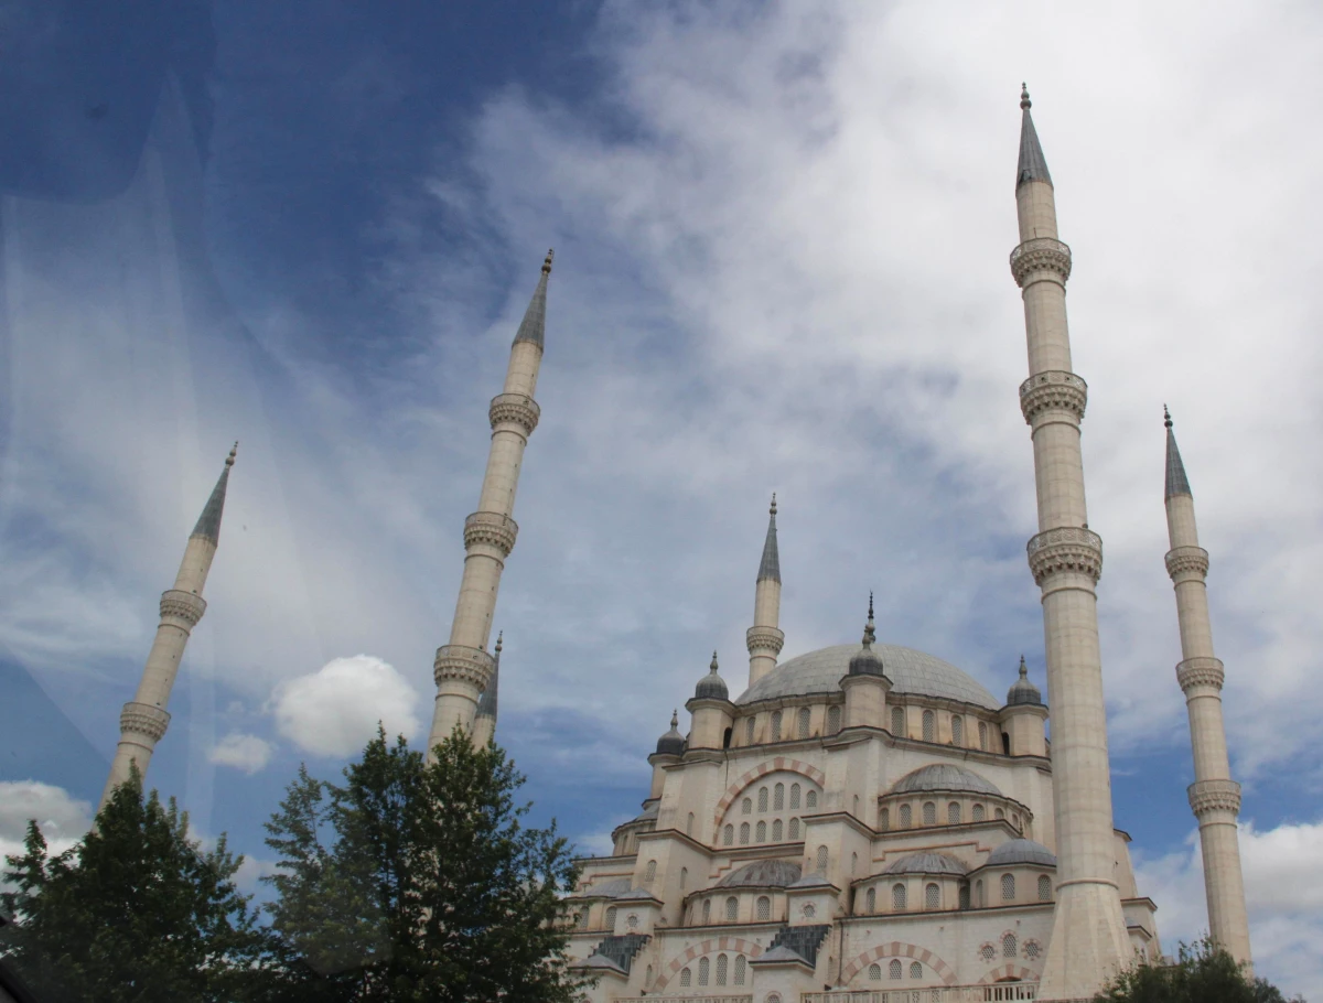
[[243,857],[225,838],[202,852],[188,815],[136,771],[73,848],[50,856],[37,823],[9,856],[3,894],[15,922],[0,951],[41,999],[209,1003],[245,996],[266,937],[234,887]]

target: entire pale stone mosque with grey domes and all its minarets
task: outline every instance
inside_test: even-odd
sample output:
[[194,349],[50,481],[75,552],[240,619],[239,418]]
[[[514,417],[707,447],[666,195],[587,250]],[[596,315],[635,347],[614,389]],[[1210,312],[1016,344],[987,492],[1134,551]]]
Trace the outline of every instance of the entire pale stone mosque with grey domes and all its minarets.
[[[859,643],[778,664],[781,566],[773,496],[747,631],[749,684],[733,693],[716,656],[648,757],[642,811],[610,856],[582,860],[566,897],[569,953],[593,1003],[954,1003],[1078,1000],[1162,949],[1155,904],[1114,828],[1097,595],[1102,539],[1089,528],[1080,426],[1088,386],[1070,367],[1054,187],[1021,94],[1011,274],[1024,300],[1039,532],[1029,570],[1043,595],[1046,703],[1021,659],[1004,699],[942,659],[878,643],[869,602]],[[491,402],[492,445],[450,640],[437,651],[429,748],[458,725],[496,725],[500,644],[488,654],[533,398],[545,348],[552,255]],[[1167,570],[1176,593],[1213,939],[1250,965],[1249,928],[1193,496],[1167,426]],[[146,773],[216,553],[234,454],[188,541],[107,794]],[[751,565],[751,561],[750,561]],[[1048,721],[1050,708],[1050,741]]]

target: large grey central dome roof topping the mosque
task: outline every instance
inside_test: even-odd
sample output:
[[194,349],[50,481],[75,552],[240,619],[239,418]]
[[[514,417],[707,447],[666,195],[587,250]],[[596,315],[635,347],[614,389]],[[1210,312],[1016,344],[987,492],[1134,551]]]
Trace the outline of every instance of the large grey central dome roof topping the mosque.
[[[886,677],[894,683],[892,692],[939,696],[990,711],[1002,709],[992,693],[950,662],[897,644],[875,644],[873,652],[882,659]],[[833,644],[796,655],[749,687],[736,703],[744,705],[779,696],[836,693],[841,676],[849,672],[851,658],[857,654],[859,644]]]

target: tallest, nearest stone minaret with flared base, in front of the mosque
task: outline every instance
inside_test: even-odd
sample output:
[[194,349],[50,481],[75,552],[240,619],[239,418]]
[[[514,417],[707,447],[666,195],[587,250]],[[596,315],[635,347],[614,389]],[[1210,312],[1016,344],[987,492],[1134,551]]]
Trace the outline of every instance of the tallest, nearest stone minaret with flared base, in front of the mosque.
[[1043,632],[1052,707],[1052,790],[1057,836],[1057,905],[1039,999],[1091,998],[1132,955],[1114,877],[1111,777],[1102,697],[1094,586],[1102,539],[1089,529],[1080,421],[1088,388],[1070,371],[1066,279],[1070,249],[1057,240],[1052,176],[1024,110],[1015,201],[1020,245],[1011,273],[1024,298],[1029,378],[1020,409],[1033,437],[1039,533],[1029,540],[1043,589]]

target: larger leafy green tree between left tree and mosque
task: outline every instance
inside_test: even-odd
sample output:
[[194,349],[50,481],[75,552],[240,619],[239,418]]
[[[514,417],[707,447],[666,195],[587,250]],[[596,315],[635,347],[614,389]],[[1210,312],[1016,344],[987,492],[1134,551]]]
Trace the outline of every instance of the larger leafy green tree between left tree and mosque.
[[291,984],[319,1000],[573,999],[560,897],[578,871],[554,823],[521,824],[504,752],[456,732],[429,763],[378,729],[344,777],[300,769],[267,823],[271,925],[307,963]]

